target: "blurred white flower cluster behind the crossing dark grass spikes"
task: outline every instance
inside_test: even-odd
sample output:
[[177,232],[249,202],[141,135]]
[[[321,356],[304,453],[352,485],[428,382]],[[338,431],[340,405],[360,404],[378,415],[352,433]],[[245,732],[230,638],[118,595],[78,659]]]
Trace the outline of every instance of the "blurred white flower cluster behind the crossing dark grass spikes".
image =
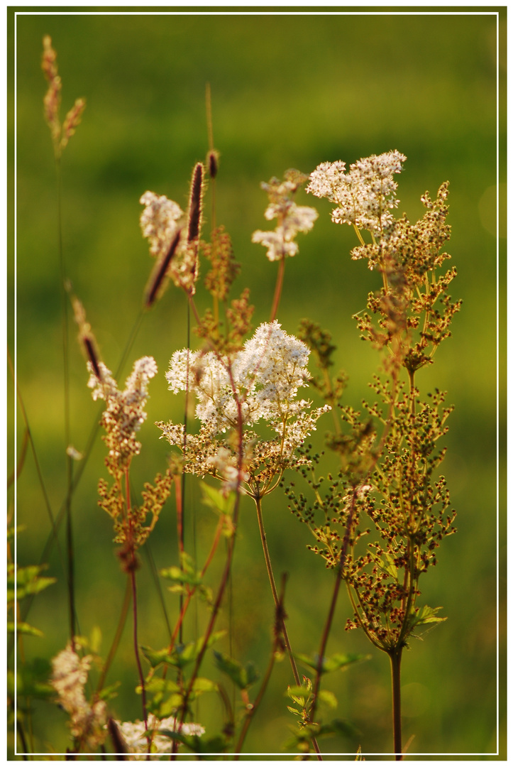
[[173,240],[179,235],[166,276],[173,280],[177,288],[193,294],[198,278],[198,259],[196,248],[187,242],[186,214],[176,202],[154,192],[145,192],[140,203],[145,206],[140,215],[143,237],[150,240],[150,254],[156,256],[158,262],[166,258]]

